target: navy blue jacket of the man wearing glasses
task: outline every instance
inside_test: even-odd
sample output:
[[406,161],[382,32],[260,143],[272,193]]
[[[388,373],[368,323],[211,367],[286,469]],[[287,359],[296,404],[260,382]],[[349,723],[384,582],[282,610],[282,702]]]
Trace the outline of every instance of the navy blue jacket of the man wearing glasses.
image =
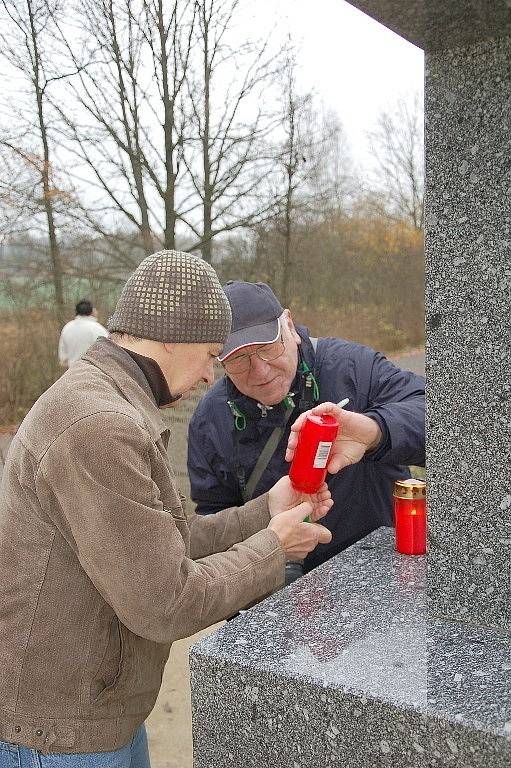
[[[307,557],[305,569],[310,570],[380,525],[393,524],[394,480],[410,477],[408,464],[424,465],[424,378],[402,371],[383,355],[350,341],[319,339],[315,354],[307,329],[297,327],[297,331],[303,359],[314,370],[319,385],[319,402],[336,403],[349,397],[347,410],[372,417],[383,434],[376,451],[337,475],[327,476],[335,504],[322,523],[332,531],[332,541],[319,545]],[[297,373],[292,392],[300,389],[301,379],[302,374]],[[256,401],[242,395],[227,377],[207,392],[192,417],[188,435],[191,496],[199,514],[243,503],[236,475],[234,421],[227,400],[234,400],[247,418],[238,449],[247,480],[268,437],[284,417],[282,404],[263,416]],[[299,413],[297,405],[254,497],[288,473],[284,454],[291,424]]]

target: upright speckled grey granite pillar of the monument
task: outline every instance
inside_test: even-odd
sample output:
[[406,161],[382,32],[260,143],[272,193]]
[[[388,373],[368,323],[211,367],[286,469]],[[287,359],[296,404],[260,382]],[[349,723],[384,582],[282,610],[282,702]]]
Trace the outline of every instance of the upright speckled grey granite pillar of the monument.
[[511,37],[426,56],[430,609],[511,629]]

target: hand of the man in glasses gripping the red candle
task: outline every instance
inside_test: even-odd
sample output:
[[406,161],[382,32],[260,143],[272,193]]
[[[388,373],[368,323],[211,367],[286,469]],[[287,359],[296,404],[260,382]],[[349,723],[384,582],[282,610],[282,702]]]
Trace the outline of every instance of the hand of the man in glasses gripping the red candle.
[[356,464],[367,451],[374,450],[381,442],[381,429],[374,419],[363,413],[345,411],[335,403],[321,403],[310,411],[302,413],[291,427],[286,461],[291,461],[294,456],[298,433],[307,413],[328,413],[339,422],[339,433],[332,445],[327,465],[328,472],[332,475],[350,464]]

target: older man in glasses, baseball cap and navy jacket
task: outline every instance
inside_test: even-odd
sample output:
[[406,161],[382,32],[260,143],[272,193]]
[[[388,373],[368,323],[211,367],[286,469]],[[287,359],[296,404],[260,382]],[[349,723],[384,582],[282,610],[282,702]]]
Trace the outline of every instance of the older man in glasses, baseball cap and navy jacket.
[[226,375],[202,398],[189,426],[188,473],[198,514],[271,488],[289,471],[286,446],[300,414],[349,398],[337,409],[335,471],[341,471],[329,477],[334,506],[323,521],[332,541],[311,552],[303,567],[288,564],[290,582],[393,524],[394,481],[410,477],[408,465],[425,460],[424,378],[361,344],[312,338],[264,283],[231,281],[224,290],[233,315],[218,357]]

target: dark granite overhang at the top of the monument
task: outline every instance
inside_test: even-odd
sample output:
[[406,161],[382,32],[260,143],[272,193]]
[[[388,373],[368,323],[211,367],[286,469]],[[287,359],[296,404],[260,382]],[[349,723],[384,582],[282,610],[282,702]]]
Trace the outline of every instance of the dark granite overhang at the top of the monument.
[[348,0],[421,48],[467,45],[511,33],[509,0]]

